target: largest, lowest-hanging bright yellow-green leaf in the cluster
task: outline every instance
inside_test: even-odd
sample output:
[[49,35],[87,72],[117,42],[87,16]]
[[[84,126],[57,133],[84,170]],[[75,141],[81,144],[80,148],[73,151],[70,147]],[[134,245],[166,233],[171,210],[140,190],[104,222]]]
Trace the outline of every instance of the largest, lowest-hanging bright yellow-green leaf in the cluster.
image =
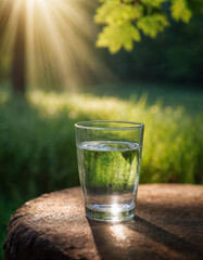
[[140,41],[139,30],[130,23],[125,25],[107,25],[99,35],[97,47],[107,47],[111,53],[116,53],[122,47],[127,51],[134,48],[134,40]]

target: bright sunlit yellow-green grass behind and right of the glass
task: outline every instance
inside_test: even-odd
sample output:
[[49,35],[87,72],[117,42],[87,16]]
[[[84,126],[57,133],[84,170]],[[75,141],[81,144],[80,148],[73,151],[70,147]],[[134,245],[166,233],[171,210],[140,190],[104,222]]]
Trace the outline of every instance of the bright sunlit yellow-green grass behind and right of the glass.
[[[90,94],[33,92],[31,105],[42,117],[66,112],[69,119],[129,120],[145,125],[142,182],[196,182],[199,156],[203,152],[201,117],[189,116],[183,107],[149,106],[147,98],[123,101]],[[198,178],[198,177],[196,177]]]

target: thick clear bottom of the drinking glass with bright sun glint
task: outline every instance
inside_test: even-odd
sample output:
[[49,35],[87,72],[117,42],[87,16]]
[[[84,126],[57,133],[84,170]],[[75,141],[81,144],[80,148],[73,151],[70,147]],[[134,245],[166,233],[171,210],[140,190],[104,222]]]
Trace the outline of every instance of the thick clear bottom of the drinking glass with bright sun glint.
[[86,205],[86,216],[91,220],[115,223],[134,219],[135,206]]

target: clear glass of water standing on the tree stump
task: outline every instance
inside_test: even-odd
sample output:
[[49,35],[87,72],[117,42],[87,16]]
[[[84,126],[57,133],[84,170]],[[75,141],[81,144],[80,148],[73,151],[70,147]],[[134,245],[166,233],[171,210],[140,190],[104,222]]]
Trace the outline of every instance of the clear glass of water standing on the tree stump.
[[118,222],[135,216],[143,123],[75,125],[79,179],[89,219]]

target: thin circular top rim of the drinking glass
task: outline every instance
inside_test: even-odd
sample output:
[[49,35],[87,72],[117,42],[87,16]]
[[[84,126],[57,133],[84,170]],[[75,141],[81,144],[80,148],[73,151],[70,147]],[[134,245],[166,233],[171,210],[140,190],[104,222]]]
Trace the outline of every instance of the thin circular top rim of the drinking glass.
[[[120,127],[97,127],[91,126],[93,123],[109,123],[109,122],[115,122],[120,125]],[[129,127],[122,127],[123,123],[131,125]],[[89,126],[88,126],[89,125]],[[142,122],[134,122],[134,121],[113,121],[113,120],[96,120],[96,121],[80,121],[75,123],[76,128],[83,128],[83,129],[93,129],[93,130],[132,130],[132,129],[139,129],[143,128],[144,125]]]

